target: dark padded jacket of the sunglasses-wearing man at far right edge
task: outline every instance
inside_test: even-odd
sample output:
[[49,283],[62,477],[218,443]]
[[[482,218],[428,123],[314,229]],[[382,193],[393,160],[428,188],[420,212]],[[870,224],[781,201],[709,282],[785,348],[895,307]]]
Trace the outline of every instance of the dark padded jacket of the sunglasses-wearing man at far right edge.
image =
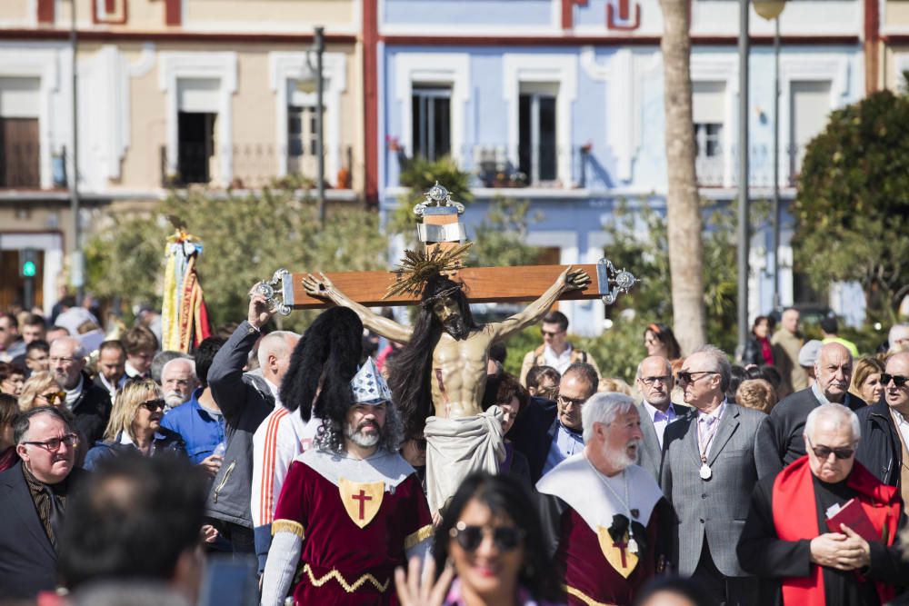
[[865,406],[856,412],[862,428],[862,439],[855,450],[855,460],[890,486],[900,485],[903,445],[896,435],[894,417],[886,402]]

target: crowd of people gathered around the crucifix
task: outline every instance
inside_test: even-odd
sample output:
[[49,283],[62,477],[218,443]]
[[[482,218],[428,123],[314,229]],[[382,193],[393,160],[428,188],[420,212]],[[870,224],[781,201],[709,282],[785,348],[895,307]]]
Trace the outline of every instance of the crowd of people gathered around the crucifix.
[[[464,353],[483,381],[443,380],[438,348],[403,381],[418,331],[498,330],[445,288],[402,343],[353,304],[269,330],[255,291],[192,353],[149,314],[0,314],[0,603],[909,603],[909,324],[859,357],[788,309],[733,364],[654,322],[629,383],[541,308],[517,376],[503,333]],[[445,434],[464,385],[479,424]],[[501,438],[484,471],[470,432]]]

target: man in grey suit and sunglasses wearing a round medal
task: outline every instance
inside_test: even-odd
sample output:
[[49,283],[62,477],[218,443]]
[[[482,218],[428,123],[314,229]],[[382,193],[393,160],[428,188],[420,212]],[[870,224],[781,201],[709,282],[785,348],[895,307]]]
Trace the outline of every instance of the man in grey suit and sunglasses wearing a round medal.
[[717,604],[756,604],[758,582],[739,565],[735,545],[757,480],[780,470],[763,412],[726,402],[726,354],[704,345],[678,373],[694,406],[664,435],[660,484],[678,515],[673,564]]

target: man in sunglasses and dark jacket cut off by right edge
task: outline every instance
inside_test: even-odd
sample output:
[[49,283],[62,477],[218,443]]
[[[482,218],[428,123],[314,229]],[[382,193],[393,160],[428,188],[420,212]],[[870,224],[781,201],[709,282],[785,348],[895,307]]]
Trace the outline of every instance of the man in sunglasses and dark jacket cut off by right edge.
[[884,402],[856,412],[862,426],[855,458],[909,502],[909,352],[894,353],[881,374]]

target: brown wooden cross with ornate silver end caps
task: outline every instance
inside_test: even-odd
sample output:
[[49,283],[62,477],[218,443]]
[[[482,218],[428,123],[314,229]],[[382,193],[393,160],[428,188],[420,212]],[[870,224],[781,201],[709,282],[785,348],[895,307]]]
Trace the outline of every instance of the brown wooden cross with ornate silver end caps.
[[[433,205],[434,201],[447,201],[448,204]],[[463,210],[464,206],[451,202],[448,192],[438,184],[426,194],[424,203],[416,205],[415,214],[423,217],[423,224],[418,231],[421,240],[426,243],[427,253],[434,247],[451,248],[457,245],[459,239],[463,239],[464,226],[458,222]],[[583,269],[590,276],[590,283],[584,289],[564,293],[561,299],[603,299],[605,304],[611,305],[619,293],[626,293],[637,282],[634,275],[624,270],[617,271],[607,259],[574,267]],[[564,265],[462,267],[449,274],[449,277],[464,283],[464,294],[470,303],[518,303],[534,301],[553,285],[564,269]],[[258,292],[265,295],[269,303],[283,315],[289,314],[292,309],[321,309],[329,306],[330,303],[305,292],[303,280],[307,273],[310,272],[290,273],[284,269],[278,270],[271,282],[257,286]],[[394,272],[342,272],[325,275],[335,283],[338,290],[366,307],[419,303],[417,296],[407,293],[385,298],[388,287],[395,283]]]

